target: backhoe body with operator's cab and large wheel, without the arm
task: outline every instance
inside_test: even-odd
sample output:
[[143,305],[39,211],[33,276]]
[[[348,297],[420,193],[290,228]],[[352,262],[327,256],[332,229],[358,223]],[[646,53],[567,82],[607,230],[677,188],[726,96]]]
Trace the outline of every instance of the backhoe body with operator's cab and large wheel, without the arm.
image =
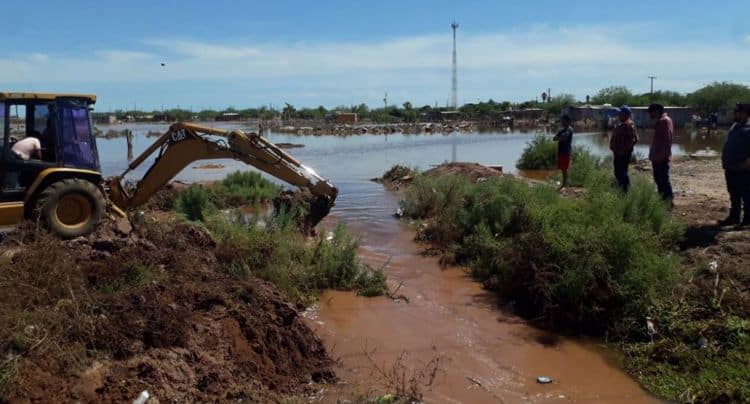
[[102,213],[94,95],[0,92],[0,229],[37,217],[58,234],[93,229]]

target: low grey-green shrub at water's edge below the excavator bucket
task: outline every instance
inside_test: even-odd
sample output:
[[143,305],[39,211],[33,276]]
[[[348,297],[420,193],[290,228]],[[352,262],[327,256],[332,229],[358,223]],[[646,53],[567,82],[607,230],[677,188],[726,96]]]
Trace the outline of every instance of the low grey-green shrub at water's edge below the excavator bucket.
[[300,234],[290,215],[275,216],[265,225],[215,215],[207,226],[219,241],[217,257],[228,272],[265,279],[293,299],[309,302],[325,289],[368,296],[386,290],[385,274],[359,261],[359,242],[343,225],[330,240],[320,236],[313,243]]

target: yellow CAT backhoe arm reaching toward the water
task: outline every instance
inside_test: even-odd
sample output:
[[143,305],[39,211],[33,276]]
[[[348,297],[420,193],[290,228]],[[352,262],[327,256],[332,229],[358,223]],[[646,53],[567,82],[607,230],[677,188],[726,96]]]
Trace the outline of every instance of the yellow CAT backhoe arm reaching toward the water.
[[[212,139],[211,136],[220,137]],[[154,153],[156,159],[133,190],[126,190],[122,180]],[[311,215],[322,219],[334,205],[338,189],[311,168],[284,152],[266,138],[240,130],[221,130],[188,123],[175,123],[121,175],[107,179],[110,200],[125,210],[144,204],[188,164],[206,159],[243,161],[315,197]],[[317,221],[316,221],[317,223]]]

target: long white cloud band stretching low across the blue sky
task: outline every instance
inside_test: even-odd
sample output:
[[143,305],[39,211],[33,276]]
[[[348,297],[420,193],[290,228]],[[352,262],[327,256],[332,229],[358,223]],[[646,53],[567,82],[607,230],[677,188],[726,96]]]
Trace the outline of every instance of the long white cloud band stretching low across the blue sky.
[[[527,31],[459,32],[459,98],[522,100],[547,87],[583,97],[612,84],[645,91],[650,74],[659,77],[658,85],[680,91],[713,80],[746,80],[750,52],[738,52],[737,45],[655,45],[636,39],[647,30],[535,26]],[[309,101],[305,94],[320,95],[319,101],[310,101],[315,104],[344,102],[332,99],[374,103],[388,91],[394,99],[431,104],[436,99],[442,103],[449,92],[450,50],[449,33],[379,41],[242,45],[159,39],[146,41],[138,50],[0,57],[0,77],[11,85],[22,85],[29,78],[61,86],[174,83],[165,88],[186,92],[186,98],[191,96],[187,89],[196,83],[230,82],[237,83],[230,87],[250,87],[281,99]],[[732,63],[716,63],[729,58]]]

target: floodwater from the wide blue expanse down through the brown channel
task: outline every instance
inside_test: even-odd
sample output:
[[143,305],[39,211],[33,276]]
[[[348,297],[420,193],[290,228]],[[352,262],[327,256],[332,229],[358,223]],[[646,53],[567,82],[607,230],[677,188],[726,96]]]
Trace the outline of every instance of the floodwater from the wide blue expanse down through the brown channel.
[[[166,130],[166,125],[134,125],[131,129],[136,134],[137,156],[155,140],[143,134]],[[415,369],[429,370],[425,366],[430,361],[439,363],[432,386],[420,388],[429,402],[655,401],[618,369],[611,352],[592,342],[558,337],[528,325],[499,307],[494,296],[460,268],[441,268],[436,258],[423,256],[412,240],[413,232],[393,217],[399,196],[369,181],[394,164],[425,169],[445,161],[476,161],[515,172],[515,160],[533,135],[268,135],[273,142],[305,145],[288,152],[340,189],[336,207],[324,225],[345,222],[362,238],[361,257],[373,266],[384,266],[392,289],[401,285],[397,293],[409,301],[330,291],[306,312],[310,324],[340,360],[337,373],[343,384],[328,389],[324,400],[351,398],[353,392],[371,389],[383,392],[388,383],[376,369],[392,370],[406,354],[403,365],[407,370],[396,373],[406,373],[407,379]],[[574,141],[595,153],[607,153],[606,135],[577,134]],[[650,141],[648,133],[643,141]],[[714,152],[722,141],[717,135],[681,133],[673,151],[677,155]],[[125,140],[97,142],[105,175],[124,170]],[[638,152],[646,155],[647,148],[639,146]],[[221,163],[225,168],[217,170],[188,167],[177,179],[210,181],[246,169],[239,162]],[[136,178],[145,169],[137,170]],[[539,384],[538,376],[549,376],[553,382]]]

